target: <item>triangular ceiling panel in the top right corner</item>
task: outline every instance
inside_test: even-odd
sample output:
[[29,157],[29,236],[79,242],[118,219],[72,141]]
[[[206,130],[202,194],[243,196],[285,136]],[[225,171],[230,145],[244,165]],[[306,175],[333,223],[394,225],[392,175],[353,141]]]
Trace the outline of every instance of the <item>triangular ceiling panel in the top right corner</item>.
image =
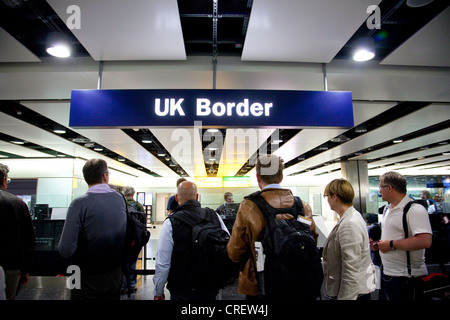
[[450,7],[388,55],[381,64],[450,67]]

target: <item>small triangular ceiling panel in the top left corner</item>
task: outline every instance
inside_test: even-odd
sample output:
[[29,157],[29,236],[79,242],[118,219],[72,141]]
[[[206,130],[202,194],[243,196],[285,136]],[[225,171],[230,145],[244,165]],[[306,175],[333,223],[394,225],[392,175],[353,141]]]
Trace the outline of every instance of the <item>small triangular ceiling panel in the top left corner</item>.
[[39,62],[41,59],[0,27],[0,62]]

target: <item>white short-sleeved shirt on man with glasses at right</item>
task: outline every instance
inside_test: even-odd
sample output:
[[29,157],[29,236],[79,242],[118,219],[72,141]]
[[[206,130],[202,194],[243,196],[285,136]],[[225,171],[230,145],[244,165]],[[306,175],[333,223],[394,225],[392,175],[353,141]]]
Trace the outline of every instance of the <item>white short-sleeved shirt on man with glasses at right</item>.
[[[399,240],[405,238],[403,231],[403,208],[412,199],[407,195],[395,207],[388,208],[381,220],[381,240]],[[427,210],[420,204],[413,204],[407,214],[408,237],[416,234],[432,234],[430,220]],[[425,249],[410,251],[411,274],[421,276],[428,274],[425,264]],[[408,277],[406,251],[395,250],[382,253],[380,257],[383,262],[383,272],[388,276]]]

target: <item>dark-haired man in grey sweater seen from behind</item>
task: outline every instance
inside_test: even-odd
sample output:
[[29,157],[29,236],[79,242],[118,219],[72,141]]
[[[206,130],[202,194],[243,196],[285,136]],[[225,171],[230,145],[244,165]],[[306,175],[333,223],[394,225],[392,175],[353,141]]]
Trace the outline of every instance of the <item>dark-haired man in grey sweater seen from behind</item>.
[[58,245],[81,270],[81,288],[72,290],[71,299],[120,299],[125,200],[108,186],[104,160],[87,161],[83,176],[89,190],[70,204]]

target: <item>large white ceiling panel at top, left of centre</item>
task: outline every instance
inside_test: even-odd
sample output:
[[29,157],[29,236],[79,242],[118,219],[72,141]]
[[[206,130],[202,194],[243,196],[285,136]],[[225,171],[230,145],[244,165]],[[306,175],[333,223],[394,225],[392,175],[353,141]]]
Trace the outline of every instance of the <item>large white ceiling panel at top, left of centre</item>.
[[48,0],[63,21],[71,5],[81,11],[71,30],[89,54],[107,60],[185,60],[176,0]]

